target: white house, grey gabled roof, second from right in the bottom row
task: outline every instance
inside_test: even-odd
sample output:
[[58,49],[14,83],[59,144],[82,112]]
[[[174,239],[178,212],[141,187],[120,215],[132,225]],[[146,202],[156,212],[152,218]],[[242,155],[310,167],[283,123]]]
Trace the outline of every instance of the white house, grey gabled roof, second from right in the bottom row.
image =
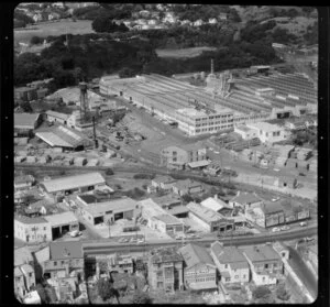
[[250,282],[249,263],[237,246],[223,246],[217,241],[211,244],[210,253],[220,272],[222,284]]

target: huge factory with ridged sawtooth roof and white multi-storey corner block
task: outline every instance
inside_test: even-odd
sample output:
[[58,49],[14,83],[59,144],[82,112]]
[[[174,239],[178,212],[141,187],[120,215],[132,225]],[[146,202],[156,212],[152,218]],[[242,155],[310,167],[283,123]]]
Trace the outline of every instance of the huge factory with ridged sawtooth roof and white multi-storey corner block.
[[242,123],[317,112],[317,90],[302,74],[232,78],[230,72],[206,78],[206,88],[161,75],[100,79],[100,92],[118,95],[161,118],[175,121],[189,136],[232,130]]

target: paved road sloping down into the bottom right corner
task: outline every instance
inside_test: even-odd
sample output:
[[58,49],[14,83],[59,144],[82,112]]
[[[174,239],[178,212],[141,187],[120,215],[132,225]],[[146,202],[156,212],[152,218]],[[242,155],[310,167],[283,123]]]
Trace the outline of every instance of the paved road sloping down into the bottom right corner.
[[302,284],[309,289],[312,297],[316,298],[318,294],[318,282],[316,279],[316,276],[308,268],[299,253],[292,246],[288,246],[288,249],[290,252],[289,263],[298,275],[299,279],[302,282]]

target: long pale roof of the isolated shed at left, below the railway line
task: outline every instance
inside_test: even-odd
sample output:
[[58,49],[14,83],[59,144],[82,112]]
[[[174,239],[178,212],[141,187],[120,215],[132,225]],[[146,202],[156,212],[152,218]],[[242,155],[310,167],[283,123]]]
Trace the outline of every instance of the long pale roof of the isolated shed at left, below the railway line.
[[41,185],[46,189],[46,191],[56,193],[105,183],[106,180],[100,173],[87,173],[46,180]]

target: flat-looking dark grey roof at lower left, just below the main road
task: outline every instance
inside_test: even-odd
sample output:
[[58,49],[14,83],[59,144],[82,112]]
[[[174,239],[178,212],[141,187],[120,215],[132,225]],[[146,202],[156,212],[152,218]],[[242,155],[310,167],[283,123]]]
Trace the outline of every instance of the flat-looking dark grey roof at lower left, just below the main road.
[[80,241],[51,242],[50,252],[51,260],[84,257]]

